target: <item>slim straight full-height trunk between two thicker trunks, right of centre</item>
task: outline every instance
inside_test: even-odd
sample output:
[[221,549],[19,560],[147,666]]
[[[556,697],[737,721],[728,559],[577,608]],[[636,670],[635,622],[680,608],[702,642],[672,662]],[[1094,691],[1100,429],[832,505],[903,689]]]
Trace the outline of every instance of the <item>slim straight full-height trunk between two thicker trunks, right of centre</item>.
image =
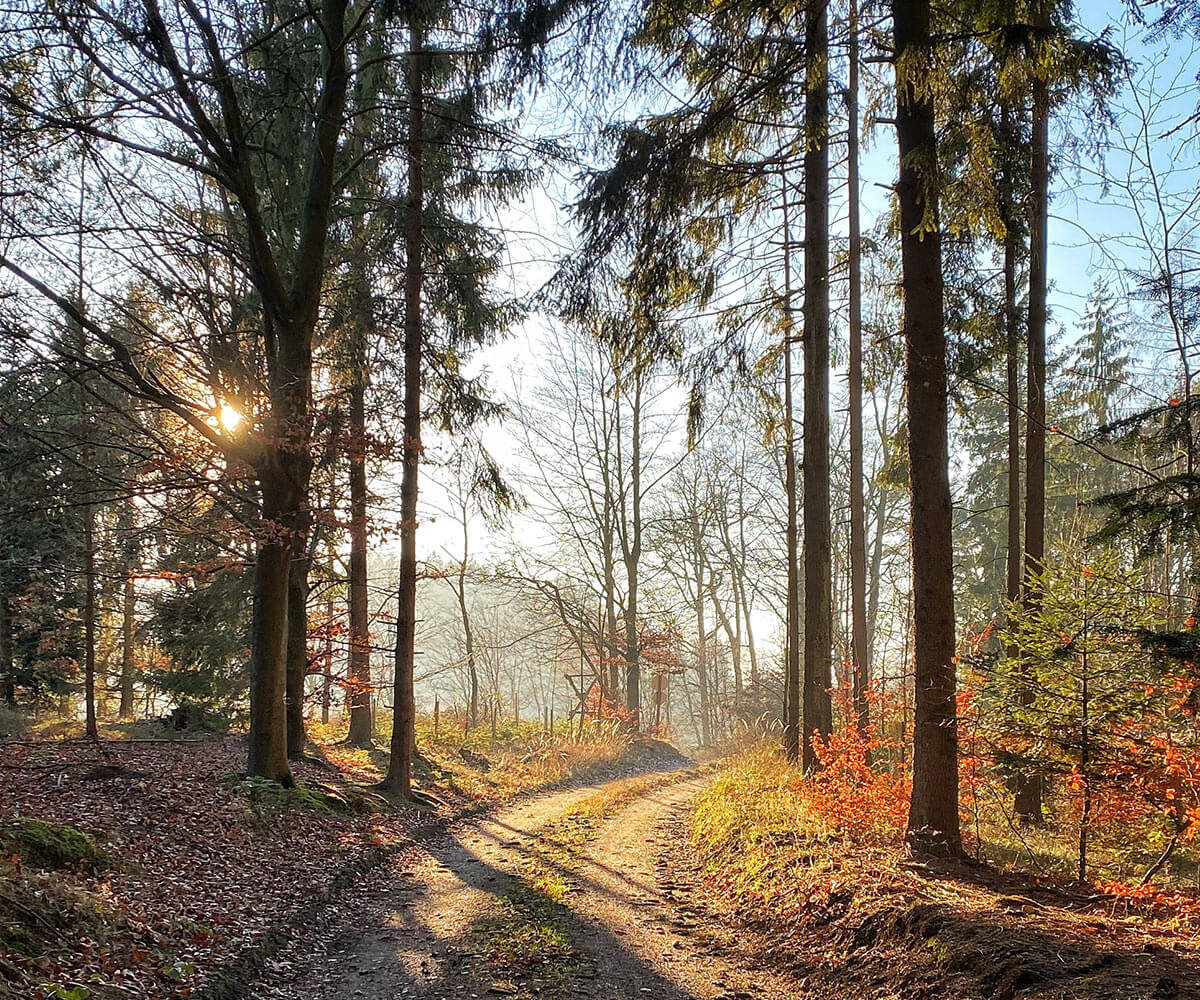
[[850,0],[850,86],[846,114],[847,202],[850,210],[850,653],[854,719],[870,724],[866,690],[871,661],[866,646],[866,505],[863,496],[863,239],[858,194],[858,0]]

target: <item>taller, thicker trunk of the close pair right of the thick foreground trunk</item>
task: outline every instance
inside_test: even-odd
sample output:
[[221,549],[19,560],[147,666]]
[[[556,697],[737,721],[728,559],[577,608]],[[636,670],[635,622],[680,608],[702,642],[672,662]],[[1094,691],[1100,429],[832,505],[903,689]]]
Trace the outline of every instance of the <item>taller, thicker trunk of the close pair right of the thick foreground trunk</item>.
[[[1034,12],[1038,28],[1049,26],[1043,2]],[[1046,517],[1046,216],[1050,198],[1050,89],[1044,73],[1033,76],[1033,154],[1030,162],[1030,325],[1025,418],[1025,593],[1026,609],[1042,605],[1040,574],[1045,559]],[[1033,703],[1032,664],[1022,664],[1021,703]],[[1042,776],[1018,774],[1013,808],[1022,822],[1042,824]]]

